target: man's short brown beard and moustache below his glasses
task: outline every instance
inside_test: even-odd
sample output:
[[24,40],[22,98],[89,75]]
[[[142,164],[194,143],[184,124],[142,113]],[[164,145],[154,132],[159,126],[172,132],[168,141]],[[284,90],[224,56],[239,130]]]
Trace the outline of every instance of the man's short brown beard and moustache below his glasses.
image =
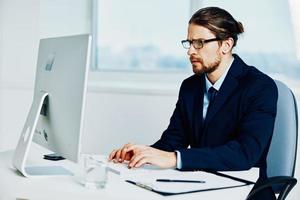
[[[194,63],[192,61],[196,61],[197,63]],[[195,74],[210,74],[214,72],[216,69],[218,69],[220,63],[221,63],[221,55],[218,53],[217,56],[214,58],[213,61],[209,63],[204,63],[203,59],[201,57],[190,57],[190,62],[193,66],[193,72]],[[199,66],[199,64],[201,66]]]

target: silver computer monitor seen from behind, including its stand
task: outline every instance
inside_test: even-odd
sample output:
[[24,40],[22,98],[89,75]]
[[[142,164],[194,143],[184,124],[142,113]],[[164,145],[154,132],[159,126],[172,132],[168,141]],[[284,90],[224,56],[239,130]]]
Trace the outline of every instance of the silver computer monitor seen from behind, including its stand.
[[78,161],[90,46],[88,34],[40,40],[33,102],[13,157],[26,177],[69,174],[61,167],[26,167],[32,141]]

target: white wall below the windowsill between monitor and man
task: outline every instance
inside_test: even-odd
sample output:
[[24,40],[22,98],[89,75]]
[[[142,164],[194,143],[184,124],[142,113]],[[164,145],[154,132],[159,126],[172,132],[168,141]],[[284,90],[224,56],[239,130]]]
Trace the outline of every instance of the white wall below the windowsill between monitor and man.
[[127,142],[154,143],[168,124],[175,100],[169,95],[90,90],[83,151],[109,153]]

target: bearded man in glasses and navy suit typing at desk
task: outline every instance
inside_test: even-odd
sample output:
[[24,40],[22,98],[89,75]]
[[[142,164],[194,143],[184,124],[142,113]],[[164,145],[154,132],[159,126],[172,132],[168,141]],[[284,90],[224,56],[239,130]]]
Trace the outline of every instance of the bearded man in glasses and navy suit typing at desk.
[[[189,21],[193,76],[183,81],[167,130],[152,146],[126,144],[109,160],[179,170],[247,170],[267,177],[266,155],[276,116],[277,87],[232,54],[243,26],[227,11],[207,7]],[[189,148],[190,147],[190,148]],[[269,196],[273,198],[274,195]],[[268,198],[270,199],[270,198]]]

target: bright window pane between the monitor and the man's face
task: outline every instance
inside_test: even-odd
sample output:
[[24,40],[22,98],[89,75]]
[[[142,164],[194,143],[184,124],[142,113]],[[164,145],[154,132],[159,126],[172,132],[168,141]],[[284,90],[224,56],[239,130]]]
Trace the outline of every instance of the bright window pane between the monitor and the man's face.
[[186,71],[186,0],[98,0],[94,12],[95,70]]

